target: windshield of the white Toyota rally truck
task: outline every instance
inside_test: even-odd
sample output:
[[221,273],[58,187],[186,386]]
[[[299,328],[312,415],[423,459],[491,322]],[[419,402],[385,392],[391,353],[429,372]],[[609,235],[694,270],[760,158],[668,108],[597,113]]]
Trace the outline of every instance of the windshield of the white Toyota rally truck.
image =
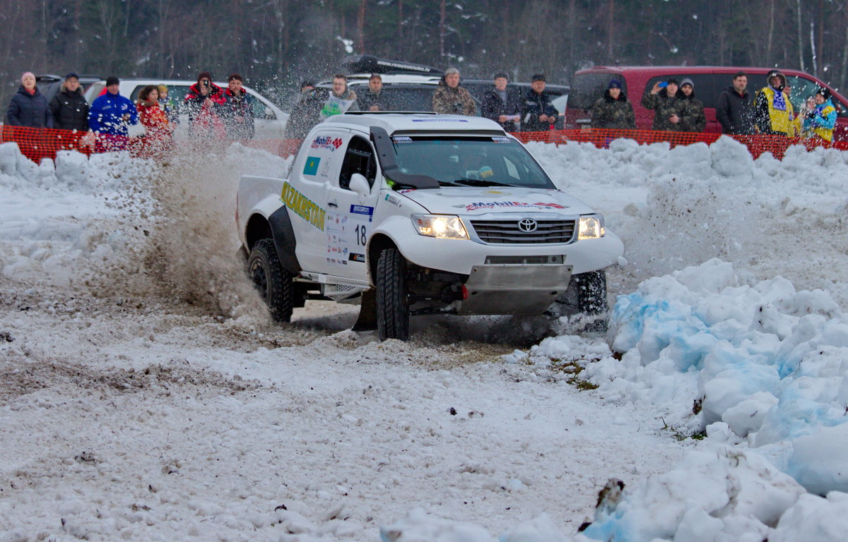
[[555,188],[530,153],[509,137],[394,136],[392,143],[402,173],[427,175],[440,185]]

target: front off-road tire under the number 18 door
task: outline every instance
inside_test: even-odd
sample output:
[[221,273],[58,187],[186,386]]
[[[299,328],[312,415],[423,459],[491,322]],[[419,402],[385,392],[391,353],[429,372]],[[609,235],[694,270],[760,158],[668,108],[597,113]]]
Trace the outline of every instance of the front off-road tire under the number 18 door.
[[410,303],[406,289],[406,259],[396,248],[377,260],[377,335],[380,340],[410,338]]

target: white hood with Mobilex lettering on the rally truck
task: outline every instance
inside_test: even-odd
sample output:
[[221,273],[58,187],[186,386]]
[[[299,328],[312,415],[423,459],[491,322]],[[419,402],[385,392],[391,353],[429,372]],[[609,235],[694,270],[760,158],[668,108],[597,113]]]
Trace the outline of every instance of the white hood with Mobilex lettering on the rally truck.
[[592,207],[558,190],[445,186],[438,190],[405,190],[399,193],[434,214],[594,213]]

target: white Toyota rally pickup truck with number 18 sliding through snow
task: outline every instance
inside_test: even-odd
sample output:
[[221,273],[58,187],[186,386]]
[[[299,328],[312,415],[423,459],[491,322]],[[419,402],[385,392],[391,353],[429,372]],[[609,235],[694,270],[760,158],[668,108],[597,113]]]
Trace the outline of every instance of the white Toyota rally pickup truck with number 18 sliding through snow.
[[237,225],[273,318],[361,303],[354,329],[381,340],[438,313],[583,312],[602,328],[604,269],[623,252],[498,124],[430,113],[318,124],[287,179],[242,177]]

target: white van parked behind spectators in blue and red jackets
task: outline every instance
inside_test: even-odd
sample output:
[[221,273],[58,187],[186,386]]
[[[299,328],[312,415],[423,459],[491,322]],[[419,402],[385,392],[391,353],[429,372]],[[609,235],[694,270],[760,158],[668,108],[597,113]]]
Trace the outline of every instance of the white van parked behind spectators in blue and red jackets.
[[[197,81],[192,80],[161,80],[161,79],[122,79],[120,80],[120,95],[128,97],[133,103],[138,99],[138,93],[142,88],[148,85],[165,85],[168,87],[168,97],[172,102],[179,107],[183,98],[186,97],[188,89]],[[215,81],[215,85],[226,89],[226,83]],[[95,98],[103,94],[103,89],[106,88],[106,81],[101,80],[94,83],[88,88],[85,93],[86,101],[91,103]],[[288,113],[283,113],[282,109],[276,107],[268,98],[262,96],[257,91],[254,91],[249,86],[243,86],[248,94],[256,98],[254,102],[254,139],[282,139],[286,132],[286,122]],[[180,113],[180,125],[177,126],[176,136],[187,135],[188,114]],[[136,124],[130,127],[130,135],[137,136],[144,132],[144,127],[141,124]]]

